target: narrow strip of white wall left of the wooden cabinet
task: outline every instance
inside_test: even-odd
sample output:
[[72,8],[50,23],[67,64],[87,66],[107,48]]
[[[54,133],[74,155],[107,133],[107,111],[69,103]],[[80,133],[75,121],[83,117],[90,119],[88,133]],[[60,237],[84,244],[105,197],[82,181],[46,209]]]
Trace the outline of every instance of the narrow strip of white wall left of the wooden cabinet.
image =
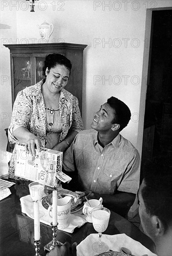
[[8,173],[10,155],[6,155],[7,137],[4,129],[9,126],[12,112],[10,55],[3,42],[8,43],[10,38],[17,37],[17,13],[15,10],[3,10],[2,2],[6,4],[6,1],[0,2],[0,176]]

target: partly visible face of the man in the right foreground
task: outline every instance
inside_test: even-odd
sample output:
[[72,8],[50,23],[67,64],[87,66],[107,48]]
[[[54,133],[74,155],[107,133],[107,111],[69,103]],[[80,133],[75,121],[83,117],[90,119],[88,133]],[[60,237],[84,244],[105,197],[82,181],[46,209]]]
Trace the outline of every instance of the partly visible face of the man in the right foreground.
[[140,216],[141,225],[142,225],[142,228],[143,228],[145,234],[147,234],[147,236],[149,236],[154,241],[156,227],[151,222],[151,216],[147,213],[146,206],[145,206],[145,203],[143,201],[143,197],[141,195],[142,189],[145,186],[146,186],[146,184],[145,184],[145,181],[143,179],[143,181],[140,185],[140,189],[138,191],[139,216]]

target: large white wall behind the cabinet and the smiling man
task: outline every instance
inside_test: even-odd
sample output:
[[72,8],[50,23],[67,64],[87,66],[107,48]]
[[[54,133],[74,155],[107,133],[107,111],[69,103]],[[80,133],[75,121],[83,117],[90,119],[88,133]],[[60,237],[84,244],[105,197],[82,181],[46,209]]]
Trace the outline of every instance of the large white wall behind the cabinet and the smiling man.
[[[7,2],[7,1],[1,1]],[[94,113],[108,97],[115,96],[124,101],[131,110],[132,120],[121,134],[127,137],[141,153],[138,134],[138,121],[143,121],[144,111],[139,116],[141,79],[144,54],[146,9],[151,7],[170,7],[171,0],[156,1],[92,1],[39,0],[35,13],[24,9],[28,2],[19,6],[1,7],[1,23],[11,29],[3,30],[4,38],[10,43],[35,43],[40,39],[37,24],[45,20],[54,24],[51,40],[87,44],[84,50],[83,68],[83,123],[89,129]],[[108,6],[104,6],[104,4]],[[11,10],[10,10],[11,9]],[[13,16],[13,20],[10,21]],[[10,19],[9,19],[10,17]],[[5,40],[4,39],[4,40]],[[1,47],[2,47],[1,40]],[[40,41],[39,41],[40,42]],[[104,43],[109,42],[109,43]],[[147,43],[146,43],[146,46]],[[9,51],[1,48],[4,56],[2,75],[10,75]],[[104,79],[110,79],[104,81]],[[146,86],[146,84],[145,84]],[[1,85],[1,111],[11,112],[11,91],[9,81]],[[139,118],[140,120],[139,120]],[[1,152],[6,148],[3,129],[8,127],[9,119],[1,121]],[[140,139],[138,139],[140,138]],[[2,158],[2,157],[1,157]],[[5,160],[1,159],[1,172]]]

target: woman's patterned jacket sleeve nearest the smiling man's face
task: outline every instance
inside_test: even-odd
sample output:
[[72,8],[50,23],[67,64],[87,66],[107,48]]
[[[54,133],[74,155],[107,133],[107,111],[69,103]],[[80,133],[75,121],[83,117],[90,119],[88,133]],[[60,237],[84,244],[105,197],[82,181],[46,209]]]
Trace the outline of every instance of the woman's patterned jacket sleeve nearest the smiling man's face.
[[80,132],[83,130],[83,121],[78,106],[78,99],[74,97],[72,113],[72,131]]

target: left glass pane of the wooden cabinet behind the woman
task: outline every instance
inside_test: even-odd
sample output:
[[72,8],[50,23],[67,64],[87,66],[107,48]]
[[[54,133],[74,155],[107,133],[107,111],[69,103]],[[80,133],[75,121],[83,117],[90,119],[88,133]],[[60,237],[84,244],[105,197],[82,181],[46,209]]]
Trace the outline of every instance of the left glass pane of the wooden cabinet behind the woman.
[[19,91],[31,85],[30,57],[13,57],[14,99]]

